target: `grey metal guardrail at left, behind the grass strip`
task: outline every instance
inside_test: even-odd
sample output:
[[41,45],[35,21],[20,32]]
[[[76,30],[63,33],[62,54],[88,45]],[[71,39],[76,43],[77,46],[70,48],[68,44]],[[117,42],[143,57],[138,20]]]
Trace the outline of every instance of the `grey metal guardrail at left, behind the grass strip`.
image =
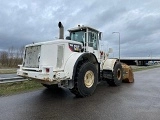
[[2,83],[12,83],[12,82],[22,82],[28,79],[22,77],[12,77],[12,78],[0,78],[0,84]]

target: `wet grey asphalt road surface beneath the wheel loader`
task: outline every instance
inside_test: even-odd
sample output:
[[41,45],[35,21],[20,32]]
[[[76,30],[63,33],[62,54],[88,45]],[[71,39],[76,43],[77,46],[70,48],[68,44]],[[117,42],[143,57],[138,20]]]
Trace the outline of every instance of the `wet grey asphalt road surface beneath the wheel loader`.
[[160,120],[160,68],[134,74],[135,83],[102,83],[87,98],[45,88],[0,97],[0,120]]

